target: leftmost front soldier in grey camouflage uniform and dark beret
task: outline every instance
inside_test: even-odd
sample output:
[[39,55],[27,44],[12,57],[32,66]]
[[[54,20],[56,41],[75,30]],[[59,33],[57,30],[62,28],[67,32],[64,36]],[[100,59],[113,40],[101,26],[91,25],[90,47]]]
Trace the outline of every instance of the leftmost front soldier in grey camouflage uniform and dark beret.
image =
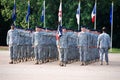
[[10,59],[9,64],[13,64],[17,60],[17,43],[18,43],[18,31],[14,25],[11,25],[11,29],[7,33],[7,45],[9,45]]

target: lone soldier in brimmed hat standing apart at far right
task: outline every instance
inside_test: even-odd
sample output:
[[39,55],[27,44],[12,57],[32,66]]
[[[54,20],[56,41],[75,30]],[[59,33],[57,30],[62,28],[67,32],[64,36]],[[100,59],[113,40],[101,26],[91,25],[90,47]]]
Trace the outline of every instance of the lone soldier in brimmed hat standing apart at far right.
[[97,48],[100,52],[101,65],[103,65],[103,55],[105,54],[106,64],[109,65],[108,50],[110,49],[110,36],[106,33],[106,28],[102,28],[103,33],[98,36]]

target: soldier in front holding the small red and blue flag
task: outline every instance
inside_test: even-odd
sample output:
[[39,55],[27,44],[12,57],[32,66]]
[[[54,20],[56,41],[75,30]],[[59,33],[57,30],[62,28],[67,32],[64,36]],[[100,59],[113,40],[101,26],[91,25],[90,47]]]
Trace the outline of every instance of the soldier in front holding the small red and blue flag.
[[66,34],[66,29],[62,29],[62,36],[60,37],[57,47],[59,48],[59,60],[60,66],[66,66],[67,63],[67,54],[68,54],[68,37]]

